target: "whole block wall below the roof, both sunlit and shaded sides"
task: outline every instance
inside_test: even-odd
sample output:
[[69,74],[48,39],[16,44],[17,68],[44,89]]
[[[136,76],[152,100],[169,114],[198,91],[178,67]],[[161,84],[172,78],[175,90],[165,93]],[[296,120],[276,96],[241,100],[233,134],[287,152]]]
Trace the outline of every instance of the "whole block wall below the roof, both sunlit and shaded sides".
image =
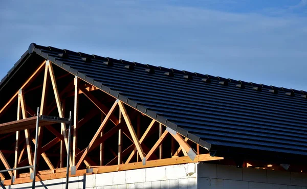
[[[65,178],[36,182],[36,188],[65,188]],[[7,188],[31,188],[32,183]],[[209,163],[145,168],[70,177],[69,188],[170,188],[170,189],[307,189],[307,174]]]

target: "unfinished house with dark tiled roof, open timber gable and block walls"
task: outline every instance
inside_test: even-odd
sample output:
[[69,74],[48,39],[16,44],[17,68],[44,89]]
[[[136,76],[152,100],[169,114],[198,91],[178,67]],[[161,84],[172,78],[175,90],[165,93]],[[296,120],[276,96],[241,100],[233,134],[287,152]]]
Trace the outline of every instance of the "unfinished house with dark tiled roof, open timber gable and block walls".
[[306,188],[307,92],[31,43],[0,159],[6,188]]

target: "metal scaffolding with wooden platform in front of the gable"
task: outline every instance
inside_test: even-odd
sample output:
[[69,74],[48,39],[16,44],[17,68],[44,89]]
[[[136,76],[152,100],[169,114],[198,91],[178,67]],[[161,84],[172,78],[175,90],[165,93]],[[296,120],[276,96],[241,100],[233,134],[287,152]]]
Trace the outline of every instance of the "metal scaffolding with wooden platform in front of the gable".
[[[37,118],[36,118],[36,127],[35,127],[35,150],[34,150],[34,162],[33,166],[25,166],[25,167],[19,167],[19,168],[13,168],[13,169],[7,169],[7,170],[2,170],[0,173],[5,173],[9,171],[15,171],[15,170],[21,170],[21,169],[29,169],[33,168],[33,173],[31,173],[31,179],[32,179],[32,188],[35,188],[35,178],[36,178],[36,173],[37,173],[37,147],[38,147],[38,128],[39,128],[39,121],[50,121],[50,122],[56,122],[56,123],[64,123],[64,124],[69,124],[69,135],[68,135],[68,155],[67,155],[67,172],[66,172],[66,188],[68,188],[69,184],[69,161],[70,161],[70,146],[71,146],[71,127],[72,127],[72,112],[70,112],[70,118],[65,119],[61,117],[51,117],[51,116],[38,116],[39,115],[39,110],[40,108],[37,107]],[[12,182],[15,180],[15,175],[12,176]],[[6,189],[5,185],[2,183],[1,178],[0,178],[0,186],[2,188]]]

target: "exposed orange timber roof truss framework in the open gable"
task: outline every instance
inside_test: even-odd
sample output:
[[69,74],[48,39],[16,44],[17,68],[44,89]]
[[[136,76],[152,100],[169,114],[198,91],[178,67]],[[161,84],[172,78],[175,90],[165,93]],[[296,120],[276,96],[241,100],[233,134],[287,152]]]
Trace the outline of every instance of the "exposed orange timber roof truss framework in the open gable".
[[[31,84],[38,79],[40,83]],[[61,82],[57,81],[59,79]],[[42,89],[41,93],[37,95],[36,89]],[[31,95],[37,98],[30,100]],[[105,173],[223,159],[211,157],[208,151],[188,138],[183,138],[157,120],[63,71],[50,61],[42,62],[16,95],[4,107],[0,107],[0,121],[5,112],[16,109],[12,106],[15,101],[17,120],[36,116],[31,103],[40,104],[40,115],[64,117],[66,110],[74,113],[71,152],[67,151],[68,128],[65,124],[47,125],[39,129],[38,155],[42,158],[38,159],[37,180],[64,178],[62,162],[65,153],[71,154],[70,166],[75,166],[76,176],[86,173],[85,168],[93,168],[94,173]],[[12,119],[15,121],[16,116]],[[15,146],[15,151],[0,147],[3,168],[32,164],[31,146],[35,144],[32,131],[29,129],[0,136],[1,142],[11,139]],[[1,153],[1,150],[7,153]],[[7,161],[9,155],[14,155],[12,162]],[[11,184],[9,176],[12,175],[16,176],[15,183],[30,182],[29,174],[10,172],[10,175],[4,175],[7,177],[5,184]]]

